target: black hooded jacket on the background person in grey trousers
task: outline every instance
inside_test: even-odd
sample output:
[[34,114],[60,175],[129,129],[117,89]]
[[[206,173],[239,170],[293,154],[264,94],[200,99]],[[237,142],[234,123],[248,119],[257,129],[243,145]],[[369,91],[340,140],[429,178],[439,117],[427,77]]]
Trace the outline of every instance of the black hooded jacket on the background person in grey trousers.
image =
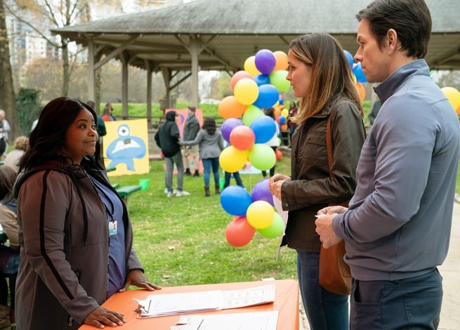
[[180,152],[180,134],[176,124],[176,112],[170,111],[166,113],[166,121],[159,126],[159,130],[155,134],[155,142],[162,150],[164,157],[173,157]]

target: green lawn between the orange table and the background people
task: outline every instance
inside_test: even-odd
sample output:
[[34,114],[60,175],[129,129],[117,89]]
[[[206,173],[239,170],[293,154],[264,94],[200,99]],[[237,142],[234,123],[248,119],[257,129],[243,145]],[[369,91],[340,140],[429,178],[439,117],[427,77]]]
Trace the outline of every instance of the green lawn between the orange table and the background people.
[[[163,164],[152,161],[149,174],[111,178],[112,183],[120,185],[135,185],[140,178],[150,178],[147,191],[129,197],[129,211],[134,249],[152,282],[180,286],[265,277],[296,279],[295,251],[284,247],[276,260],[281,238],[268,239],[256,232],[247,246],[228,244],[225,228],[232,216],[223,211],[219,195],[204,197],[202,176],[185,177],[184,189],[190,196],[166,197]],[[287,166],[289,159],[283,157],[278,167],[284,171]],[[249,192],[261,178],[261,174],[242,175]],[[173,182],[176,185],[176,176]]]

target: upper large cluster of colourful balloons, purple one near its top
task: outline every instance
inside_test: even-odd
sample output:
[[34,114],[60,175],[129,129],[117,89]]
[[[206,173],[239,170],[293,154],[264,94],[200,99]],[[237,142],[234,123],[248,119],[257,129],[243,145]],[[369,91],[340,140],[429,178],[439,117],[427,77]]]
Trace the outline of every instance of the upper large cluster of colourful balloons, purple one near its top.
[[276,132],[277,122],[263,109],[275,107],[280,93],[290,87],[287,81],[287,55],[282,51],[261,49],[244,62],[244,70],[233,74],[233,95],[221,100],[218,112],[225,119],[221,133],[230,146],[219,157],[221,168],[233,173],[247,160],[262,171],[275,165],[277,155],[265,145]]

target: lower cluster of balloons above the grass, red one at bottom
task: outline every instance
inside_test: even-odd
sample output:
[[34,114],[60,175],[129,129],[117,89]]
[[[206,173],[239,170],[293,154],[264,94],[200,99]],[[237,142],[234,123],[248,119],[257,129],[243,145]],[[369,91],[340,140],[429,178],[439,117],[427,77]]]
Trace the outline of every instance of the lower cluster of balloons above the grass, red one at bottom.
[[244,187],[230,185],[221,192],[221,205],[234,218],[225,230],[227,242],[236,247],[249,244],[256,231],[275,238],[284,232],[284,221],[275,212],[268,179],[260,180],[249,194]]

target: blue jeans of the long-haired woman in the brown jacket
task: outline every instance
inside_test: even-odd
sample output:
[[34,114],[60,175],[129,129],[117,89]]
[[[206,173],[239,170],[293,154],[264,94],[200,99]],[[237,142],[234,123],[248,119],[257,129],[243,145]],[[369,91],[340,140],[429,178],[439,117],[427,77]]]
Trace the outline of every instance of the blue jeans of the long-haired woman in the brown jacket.
[[297,251],[298,285],[310,329],[348,330],[348,296],[323,289],[319,273],[320,253]]

